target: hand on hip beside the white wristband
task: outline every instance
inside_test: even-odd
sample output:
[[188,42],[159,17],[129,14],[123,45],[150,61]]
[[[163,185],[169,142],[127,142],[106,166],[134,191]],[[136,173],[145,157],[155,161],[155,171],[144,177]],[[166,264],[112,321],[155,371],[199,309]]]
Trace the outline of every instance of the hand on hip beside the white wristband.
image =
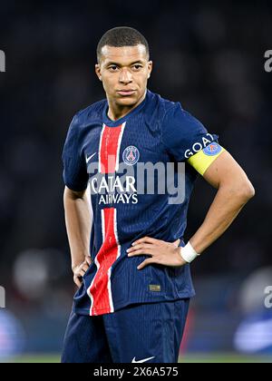
[[151,258],[145,259],[137,269],[143,269],[147,265],[156,263],[159,265],[180,267],[187,262],[180,256],[180,239],[175,242],[165,242],[160,239],[144,237],[132,243],[132,247],[127,249],[128,257],[137,255],[150,255]]

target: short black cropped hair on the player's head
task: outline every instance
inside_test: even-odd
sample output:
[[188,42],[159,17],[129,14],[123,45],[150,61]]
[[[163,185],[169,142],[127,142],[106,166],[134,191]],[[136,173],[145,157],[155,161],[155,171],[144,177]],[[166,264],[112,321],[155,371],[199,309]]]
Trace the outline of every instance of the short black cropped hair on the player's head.
[[97,62],[99,63],[101,60],[102,48],[105,45],[121,47],[137,46],[138,44],[143,44],[145,46],[149,59],[150,47],[147,40],[140,32],[129,26],[118,26],[116,28],[112,28],[102,35],[102,38],[97,45]]

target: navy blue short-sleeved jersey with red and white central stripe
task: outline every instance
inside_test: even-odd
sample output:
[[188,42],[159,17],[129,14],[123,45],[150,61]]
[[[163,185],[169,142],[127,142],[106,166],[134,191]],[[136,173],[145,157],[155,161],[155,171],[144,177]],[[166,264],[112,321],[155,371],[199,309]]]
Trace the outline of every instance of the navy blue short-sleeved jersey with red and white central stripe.
[[[174,242],[186,229],[189,198],[197,172],[187,159],[217,141],[218,136],[160,95],[147,91],[144,101],[117,121],[107,116],[108,102],[94,103],[73,117],[63,147],[63,180],[71,190],[90,186],[92,265],[74,296],[74,310],[102,315],[133,303],[159,302],[194,296],[189,265],[171,268],[137,266],[147,255],[128,258],[136,239],[151,237]],[[185,162],[182,202],[170,202],[167,176],[154,171],[139,177],[141,165],[173,162],[173,184]],[[126,168],[126,171],[123,169]],[[142,174],[142,173],[141,173]],[[172,196],[172,195],[171,195]]]

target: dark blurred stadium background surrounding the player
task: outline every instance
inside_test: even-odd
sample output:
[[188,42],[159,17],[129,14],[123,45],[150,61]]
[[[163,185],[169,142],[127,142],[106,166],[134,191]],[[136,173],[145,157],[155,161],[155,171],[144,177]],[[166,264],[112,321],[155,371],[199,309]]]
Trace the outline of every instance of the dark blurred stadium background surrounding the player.
[[[102,34],[138,28],[151,44],[150,89],[199,118],[257,195],[192,266],[180,361],[272,362],[272,49],[269,2],[5,1],[0,9],[0,361],[58,362],[73,298],[61,154],[73,114],[104,97],[93,73]],[[199,179],[186,239],[215,190]]]

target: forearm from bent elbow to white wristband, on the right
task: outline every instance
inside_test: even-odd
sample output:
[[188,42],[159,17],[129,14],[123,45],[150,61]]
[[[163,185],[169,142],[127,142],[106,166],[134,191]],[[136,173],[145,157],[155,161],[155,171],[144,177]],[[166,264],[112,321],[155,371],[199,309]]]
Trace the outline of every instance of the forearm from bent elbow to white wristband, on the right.
[[250,183],[236,189],[232,186],[219,187],[204,222],[189,239],[192,247],[200,254],[219,239],[253,196],[254,189]]

